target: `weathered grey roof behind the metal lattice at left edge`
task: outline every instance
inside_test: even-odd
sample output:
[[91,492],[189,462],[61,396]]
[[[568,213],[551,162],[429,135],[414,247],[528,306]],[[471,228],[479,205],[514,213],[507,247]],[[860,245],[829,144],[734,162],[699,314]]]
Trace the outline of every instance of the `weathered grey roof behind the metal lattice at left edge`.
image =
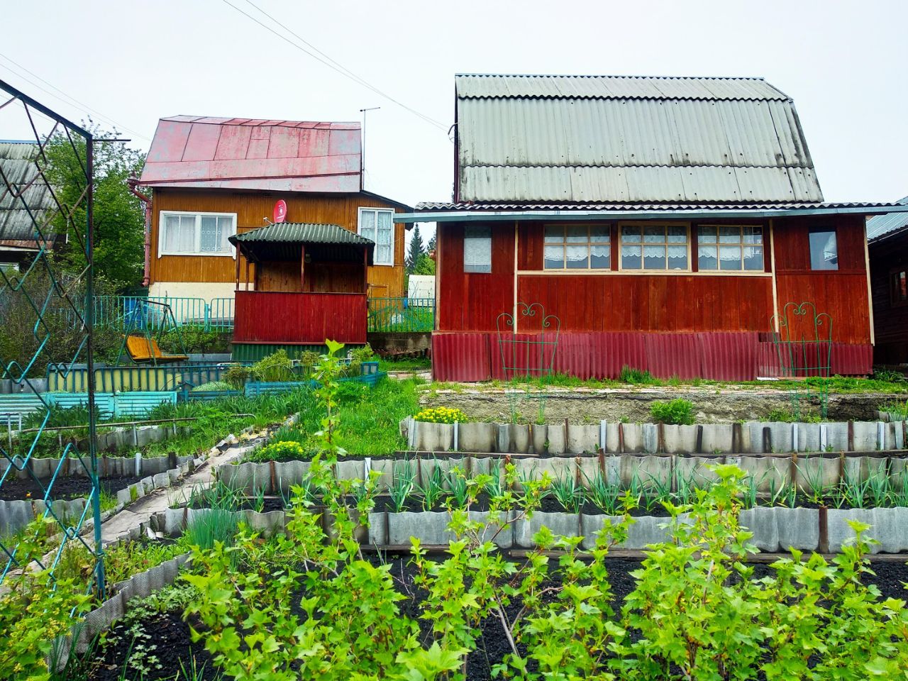
[[[35,166],[37,155],[37,143],[0,141],[0,249],[36,251],[35,221],[43,226],[56,209],[54,194]],[[53,241],[49,227],[43,233]]]

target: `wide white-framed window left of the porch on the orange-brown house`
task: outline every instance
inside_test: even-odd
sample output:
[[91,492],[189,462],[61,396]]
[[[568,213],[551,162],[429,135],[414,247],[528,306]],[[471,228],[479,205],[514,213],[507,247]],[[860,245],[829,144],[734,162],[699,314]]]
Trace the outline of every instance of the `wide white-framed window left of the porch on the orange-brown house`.
[[234,255],[229,237],[236,233],[235,212],[161,212],[158,257]]

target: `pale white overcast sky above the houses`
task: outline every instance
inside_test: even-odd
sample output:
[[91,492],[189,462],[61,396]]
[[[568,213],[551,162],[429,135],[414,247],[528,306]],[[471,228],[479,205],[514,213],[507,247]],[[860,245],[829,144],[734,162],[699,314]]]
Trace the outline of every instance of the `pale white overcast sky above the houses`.
[[[228,2],[439,124],[319,63]],[[143,149],[163,116],[357,121],[360,109],[380,106],[366,125],[366,188],[411,204],[449,201],[456,73],[758,75],[794,98],[827,201],[908,194],[905,0],[0,7],[0,78],[74,120],[91,114],[59,88]],[[0,127],[0,139],[26,133]]]

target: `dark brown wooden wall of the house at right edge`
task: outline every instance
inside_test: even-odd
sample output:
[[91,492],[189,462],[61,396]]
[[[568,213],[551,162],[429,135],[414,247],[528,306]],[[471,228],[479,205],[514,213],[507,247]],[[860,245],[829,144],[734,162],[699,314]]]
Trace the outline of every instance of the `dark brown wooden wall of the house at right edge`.
[[893,304],[893,272],[908,271],[908,233],[870,244],[870,286],[873,291],[873,360],[879,364],[908,362],[908,302]]

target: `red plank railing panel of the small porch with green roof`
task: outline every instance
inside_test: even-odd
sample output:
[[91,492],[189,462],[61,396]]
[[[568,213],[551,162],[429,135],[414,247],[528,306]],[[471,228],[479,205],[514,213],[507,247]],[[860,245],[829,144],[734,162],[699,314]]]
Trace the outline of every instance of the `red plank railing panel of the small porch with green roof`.
[[364,293],[236,291],[234,343],[366,342]]

